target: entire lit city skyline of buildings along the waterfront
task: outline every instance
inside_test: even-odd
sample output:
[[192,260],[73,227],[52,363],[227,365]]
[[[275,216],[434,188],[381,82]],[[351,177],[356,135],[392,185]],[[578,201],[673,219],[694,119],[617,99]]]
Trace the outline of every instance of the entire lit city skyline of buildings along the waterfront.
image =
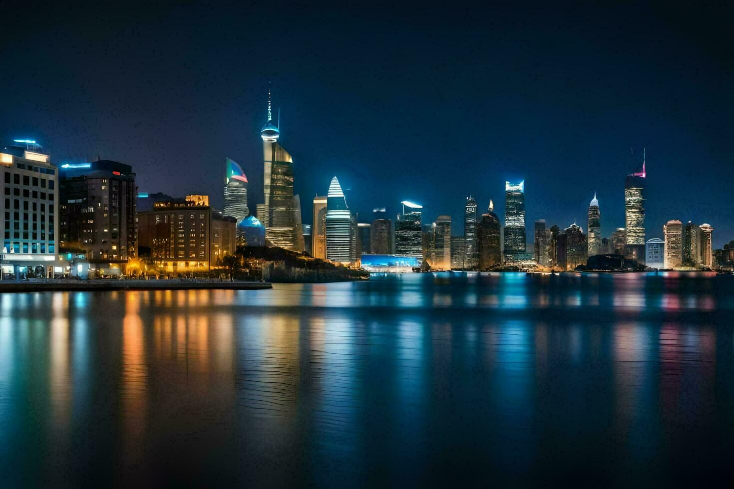
[[[625,227],[602,235],[596,193],[586,232],[574,221],[548,227],[534,221],[526,237],[526,182],[505,182],[504,222],[490,199],[482,213],[464,202],[463,235],[451,216],[424,218],[423,206],[404,200],[395,218],[375,207],[368,222],[350,209],[338,177],[313,198],[311,224],[302,224],[294,194],[294,161],[280,145],[268,91],[263,144],[262,203],[250,212],[247,175],[224,159],[223,208],[206,195],[175,198],[137,188],[131,166],[101,160],[55,166],[36,141],[18,139],[0,151],[4,172],[1,272],[29,276],[117,276],[205,271],[237,246],[280,247],[368,271],[492,271],[502,268],[571,271],[608,268],[710,270],[734,268],[734,241],[712,249],[713,227],[672,219],[662,238],[647,239],[645,155],[625,177]],[[611,264],[611,265],[610,265]]]

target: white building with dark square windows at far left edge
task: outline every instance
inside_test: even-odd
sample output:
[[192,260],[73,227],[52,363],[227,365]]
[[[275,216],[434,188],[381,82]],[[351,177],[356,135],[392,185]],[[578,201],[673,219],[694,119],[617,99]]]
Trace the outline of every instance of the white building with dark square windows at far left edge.
[[[2,205],[2,273],[53,276],[59,257],[59,180],[48,155],[35,141],[16,140],[0,150]],[[60,273],[61,270],[59,269]]]

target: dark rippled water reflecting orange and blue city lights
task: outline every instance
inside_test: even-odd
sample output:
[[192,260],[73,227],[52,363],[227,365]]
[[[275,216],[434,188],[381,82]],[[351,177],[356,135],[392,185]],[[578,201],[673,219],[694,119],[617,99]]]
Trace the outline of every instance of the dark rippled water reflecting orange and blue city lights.
[[7,487],[700,485],[734,277],[0,295]]

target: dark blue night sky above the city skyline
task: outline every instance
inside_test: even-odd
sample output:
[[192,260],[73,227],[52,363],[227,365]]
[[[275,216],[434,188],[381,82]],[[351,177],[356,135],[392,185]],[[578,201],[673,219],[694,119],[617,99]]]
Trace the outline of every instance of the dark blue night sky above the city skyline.
[[528,241],[538,218],[586,231],[594,191],[608,236],[647,147],[647,238],[677,218],[734,239],[731,8],[265,5],[5,9],[2,141],[217,206],[230,157],[254,213],[272,81],[304,223],[336,175],[360,221],[409,199],[459,235],[466,195],[503,218],[524,178]]

